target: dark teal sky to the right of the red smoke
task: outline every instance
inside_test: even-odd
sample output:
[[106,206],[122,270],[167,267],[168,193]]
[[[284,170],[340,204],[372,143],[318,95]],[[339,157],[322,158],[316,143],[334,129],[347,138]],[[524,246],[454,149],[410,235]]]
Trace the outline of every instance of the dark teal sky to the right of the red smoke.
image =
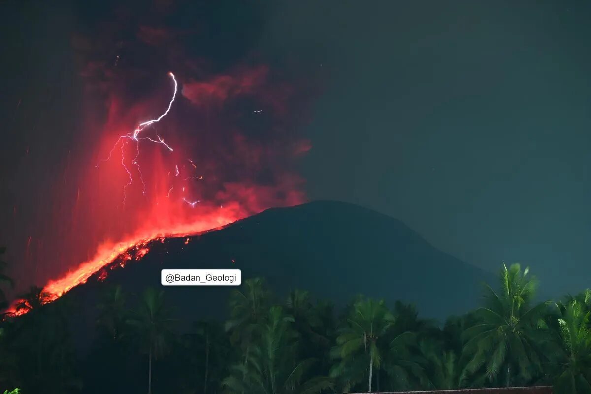
[[553,291],[589,286],[591,4],[317,4],[291,2],[265,35],[327,68],[310,197],[483,268],[530,264]]

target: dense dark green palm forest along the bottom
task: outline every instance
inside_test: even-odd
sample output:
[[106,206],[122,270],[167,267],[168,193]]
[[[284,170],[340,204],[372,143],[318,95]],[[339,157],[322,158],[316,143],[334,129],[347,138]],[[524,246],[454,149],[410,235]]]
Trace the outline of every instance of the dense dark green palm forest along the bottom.
[[[306,394],[554,385],[557,394],[591,393],[591,291],[537,303],[528,271],[503,266],[497,284],[483,285],[482,307],[444,324],[420,318],[412,305],[362,295],[338,311],[303,290],[278,299],[254,278],[232,291],[228,320],[197,321],[186,330],[180,327],[187,322],[173,318],[174,299],[165,289],[132,295],[106,286],[95,332],[85,333],[92,344],[83,352],[76,350],[71,320],[77,308],[89,306],[66,297],[43,305],[47,295],[31,288],[20,305],[30,312],[6,316],[0,326],[0,392]],[[11,284],[6,276],[0,280]]]

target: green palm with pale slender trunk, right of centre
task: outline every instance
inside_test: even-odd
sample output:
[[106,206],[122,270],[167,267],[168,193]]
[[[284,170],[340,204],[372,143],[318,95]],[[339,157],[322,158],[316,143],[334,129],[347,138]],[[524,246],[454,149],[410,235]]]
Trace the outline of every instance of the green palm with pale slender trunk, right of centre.
[[[333,367],[331,376],[344,377],[344,390],[348,392],[359,383],[365,370],[368,375],[368,392],[371,392],[374,368],[379,368],[382,355],[388,348],[384,337],[394,324],[394,315],[388,311],[384,301],[358,299],[349,311],[346,322],[339,330],[337,346],[333,357],[340,359]],[[360,364],[363,360],[363,364]],[[367,367],[369,364],[369,368]]]

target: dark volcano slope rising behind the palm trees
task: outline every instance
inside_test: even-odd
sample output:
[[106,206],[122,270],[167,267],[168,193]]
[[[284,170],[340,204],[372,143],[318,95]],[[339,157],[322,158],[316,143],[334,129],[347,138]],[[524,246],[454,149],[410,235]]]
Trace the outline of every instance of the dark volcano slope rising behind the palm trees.
[[[495,283],[491,273],[433,248],[399,220],[348,203],[318,201],[269,209],[189,239],[155,241],[139,261],[107,269],[103,281],[98,272],[64,298],[76,299],[86,311],[78,323],[92,325],[92,310],[106,285],[122,284],[137,294],[148,285],[160,287],[163,268],[239,268],[242,282],[262,276],[279,297],[303,288],[339,307],[361,293],[389,305],[411,302],[422,317],[438,319],[475,307],[482,282]],[[225,318],[233,288],[165,290],[171,306],[191,321]]]

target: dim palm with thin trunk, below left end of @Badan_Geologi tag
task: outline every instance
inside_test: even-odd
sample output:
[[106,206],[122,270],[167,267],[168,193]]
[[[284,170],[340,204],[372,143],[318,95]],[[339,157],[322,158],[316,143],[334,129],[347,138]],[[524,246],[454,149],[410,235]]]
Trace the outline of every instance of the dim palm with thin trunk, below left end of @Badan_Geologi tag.
[[141,347],[148,353],[148,394],[152,393],[152,359],[168,350],[173,321],[165,304],[164,291],[145,289],[129,324],[135,328]]

